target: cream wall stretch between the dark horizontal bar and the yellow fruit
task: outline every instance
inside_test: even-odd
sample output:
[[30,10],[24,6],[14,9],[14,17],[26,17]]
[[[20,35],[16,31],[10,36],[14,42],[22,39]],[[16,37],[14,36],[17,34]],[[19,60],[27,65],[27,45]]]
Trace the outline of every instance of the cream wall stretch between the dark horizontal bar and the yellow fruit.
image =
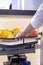
[[32,16],[0,16],[0,29],[13,29],[20,27],[24,29],[30,22]]

